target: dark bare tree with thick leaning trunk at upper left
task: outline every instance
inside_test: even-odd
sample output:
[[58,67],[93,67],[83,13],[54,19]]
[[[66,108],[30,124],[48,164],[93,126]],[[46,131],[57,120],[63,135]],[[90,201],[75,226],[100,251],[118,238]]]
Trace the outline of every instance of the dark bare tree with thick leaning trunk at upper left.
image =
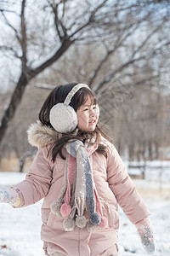
[[[89,30],[90,27],[95,27],[97,25],[97,21],[94,21],[94,18],[99,13],[99,11],[102,11],[102,8],[106,8],[105,4],[108,2],[107,0],[101,1],[99,4],[95,4],[94,8],[91,10],[88,10],[88,13],[86,14],[86,19],[79,19],[79,20],[72,20],[70,21],[70,24],[68,27],[65,26],[64,20],[65,20],[65,9],[66,4],[70,4],[69,1],[60,1],[59,3],[55,3],[54,1],[47,1],[46,5],[43,6],[43,8],[49,8],[52,9],[52,13],[54,15],[54,26],[57,32],[58,40],[57,44],[59,45],[58,48],[54,51],[54,54],[48,57],[45,61],[42,61],[40,65],[37,67],[30,67],[28,62],[28,38],[27,38],[27,30],[26,30],[26,0],[23,0],[20,4],[20,31],[17,31],[14,26],[8,21],[8,18],[4,14],[4,10],[2,10],[3,18],[6,22],[6,24],[14,31],[15,37],[18,40],[18,44],[20,45],[21,54],[17,55],[15,50],[10,47],[6,47],[4,45],[0,46],[0,49],[8,49],[11,50],[14,55],[17,55],[17,57],[21,61],[21,73],[20,78],[16,84],[16,87],[14,89],[13,96],[11,97],[11,101],[8,104],[8,108],[3,113],[3,118],[1,121],[0,126],[0,141],[2,141],[4,133],[8,127],[8,122],[13,118],[14,112],[17,108],[17,106],[20,103],[20,100],[23,96],[23,93],[26,89],[26,84],[37,76],[37,74],[42,73],[42,71],[49,67],[51,64],[54,63],[54,61],[59,60],[59,57],[65,53],[67,49],[71,46],[71,44],[74,44],[78,37],[81,37],[83,32],[85,30]],[[67,7],[68,8],[68,7]],[[61,9],[61,17],[59,18],[59,9]],[[87,12],[87,9],[86,9]],[[80,17],[79,17],[80,18]],[[31,62],[31,61],[30,61]]]

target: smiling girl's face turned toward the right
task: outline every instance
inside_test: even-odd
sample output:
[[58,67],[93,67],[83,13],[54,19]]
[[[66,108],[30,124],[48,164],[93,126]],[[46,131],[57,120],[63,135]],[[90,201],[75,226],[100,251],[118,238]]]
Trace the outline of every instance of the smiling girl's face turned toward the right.
[[91,99],[77,109],[78,128],[81,131],[94,131],[99,119],[99,111],[96,105],[92,105]]

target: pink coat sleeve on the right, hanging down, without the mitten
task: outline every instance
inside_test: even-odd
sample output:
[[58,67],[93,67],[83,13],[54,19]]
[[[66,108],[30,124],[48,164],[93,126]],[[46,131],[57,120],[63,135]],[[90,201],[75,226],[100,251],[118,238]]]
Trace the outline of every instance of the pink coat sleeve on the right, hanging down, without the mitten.
[[107,181],[127,218],[136,224],[150,215],[116,148],[111,144],[107,158]]

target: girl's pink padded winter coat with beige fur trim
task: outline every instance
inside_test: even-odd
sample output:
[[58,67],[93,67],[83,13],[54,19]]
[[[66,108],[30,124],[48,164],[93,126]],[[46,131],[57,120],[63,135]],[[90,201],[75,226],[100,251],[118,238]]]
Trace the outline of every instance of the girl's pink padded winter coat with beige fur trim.
[[[39,136],[44,132],[46,133],[44,137]],[[26,180],[19,183],[16,188],[20,191],[20,207],[26,207],[44,198],[41,236],[45,253],[49,255],[58,251],[74,256],[111,255],[111,253],[100,253],[106,252],[107,248],[117,242],[119,228],[117,203],[133,224],[150,215],[132,180],[127,175],[126,167],[116,148],[102,138],[102,143],[108,149],[107,159],[104,155],[97,153],[96,148],[89,156],[95,187],[102,204],[103,214],[108,219],[108,226],[92,233],[89,233],[86,228],[76,228],[71,232],[66,232],[62,225],[64,218],[57,217],[50,210],[51,203],[57,199],[61,189],[65,160],[58,155],[53,163],[48,157],[48,145],[46,144],[52,142],[54,137],[47,129],[44,131],[39,123],[31,127],[30,137],[31,144],[38,145],[39,149],[26,175]]]

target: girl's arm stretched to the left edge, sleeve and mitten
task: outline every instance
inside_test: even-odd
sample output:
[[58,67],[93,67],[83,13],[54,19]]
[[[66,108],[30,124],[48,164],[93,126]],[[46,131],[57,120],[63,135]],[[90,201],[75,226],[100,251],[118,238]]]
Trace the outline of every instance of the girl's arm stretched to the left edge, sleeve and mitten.
[[13,207],[26,207],[46,196],[52,179],[51,161],[47,155],[47,148],[39,149],[26,180],[16,184],[14,188],[0,186],[0,202],[9,203]]

